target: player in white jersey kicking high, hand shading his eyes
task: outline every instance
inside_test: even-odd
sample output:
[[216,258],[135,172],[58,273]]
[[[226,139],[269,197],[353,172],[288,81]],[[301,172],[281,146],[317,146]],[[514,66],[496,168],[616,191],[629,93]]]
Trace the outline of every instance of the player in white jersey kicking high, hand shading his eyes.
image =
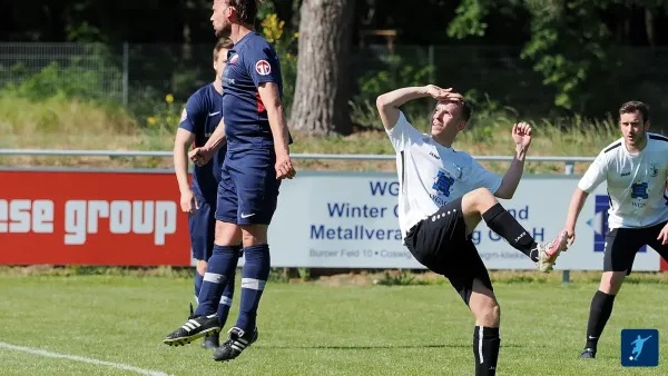
[[[429,135],[413,128],[399,109],[422,97],[438,100]],[[471,234],[484,220],[543,273],[549,273],[557,256],[566,250],[566,234],[559,234],[556,241],[537,244],[495,198],[511,198],[515,192],[531,144],[531,127],[524,122],[512,127],[515,155],[500,178],[452,148],[471,116],[471,107],[452,89],[433,85],[402,88],[380,96],[376,107],[396,150],[403,243],[418,261],[446,277],[469,306],[475,317],[475,375],[495,375],[500,308]]]

